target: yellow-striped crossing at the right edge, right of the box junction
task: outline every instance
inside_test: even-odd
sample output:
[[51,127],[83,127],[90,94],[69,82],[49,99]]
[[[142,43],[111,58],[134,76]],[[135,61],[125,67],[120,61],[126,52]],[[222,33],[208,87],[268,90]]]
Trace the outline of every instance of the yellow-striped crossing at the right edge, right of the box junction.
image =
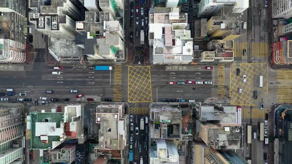
[[292,71],[277,71],[277,102],[292,103]]

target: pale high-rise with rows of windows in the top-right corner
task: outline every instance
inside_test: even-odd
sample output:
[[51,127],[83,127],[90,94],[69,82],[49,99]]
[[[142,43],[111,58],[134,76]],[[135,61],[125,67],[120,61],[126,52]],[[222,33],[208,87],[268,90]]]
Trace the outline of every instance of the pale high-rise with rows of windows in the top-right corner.
[[291,0],[272,0],[272,17],[285,18],[292,17],[292,4]]

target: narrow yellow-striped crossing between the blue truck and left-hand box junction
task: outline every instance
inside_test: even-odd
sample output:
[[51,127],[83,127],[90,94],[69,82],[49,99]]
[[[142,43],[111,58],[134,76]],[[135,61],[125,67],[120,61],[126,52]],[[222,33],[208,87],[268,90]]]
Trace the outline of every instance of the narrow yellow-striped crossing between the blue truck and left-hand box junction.
[[122,66],[114,67],[113,101],[122,101]]

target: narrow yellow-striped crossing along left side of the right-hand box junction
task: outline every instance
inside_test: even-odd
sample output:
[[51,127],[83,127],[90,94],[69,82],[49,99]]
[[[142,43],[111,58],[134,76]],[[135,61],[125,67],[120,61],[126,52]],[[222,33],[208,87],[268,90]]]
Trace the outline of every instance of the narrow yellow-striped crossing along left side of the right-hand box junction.
[[225,97],[225,65],[218,64],[218,97]]

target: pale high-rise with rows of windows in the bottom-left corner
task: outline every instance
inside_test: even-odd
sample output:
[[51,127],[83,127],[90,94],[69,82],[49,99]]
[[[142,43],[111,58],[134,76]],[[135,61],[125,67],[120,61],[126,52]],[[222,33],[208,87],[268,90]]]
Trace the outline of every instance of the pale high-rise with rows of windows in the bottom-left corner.
[[20,107],[0,107],[0,164],[22,164],[23,126]]

